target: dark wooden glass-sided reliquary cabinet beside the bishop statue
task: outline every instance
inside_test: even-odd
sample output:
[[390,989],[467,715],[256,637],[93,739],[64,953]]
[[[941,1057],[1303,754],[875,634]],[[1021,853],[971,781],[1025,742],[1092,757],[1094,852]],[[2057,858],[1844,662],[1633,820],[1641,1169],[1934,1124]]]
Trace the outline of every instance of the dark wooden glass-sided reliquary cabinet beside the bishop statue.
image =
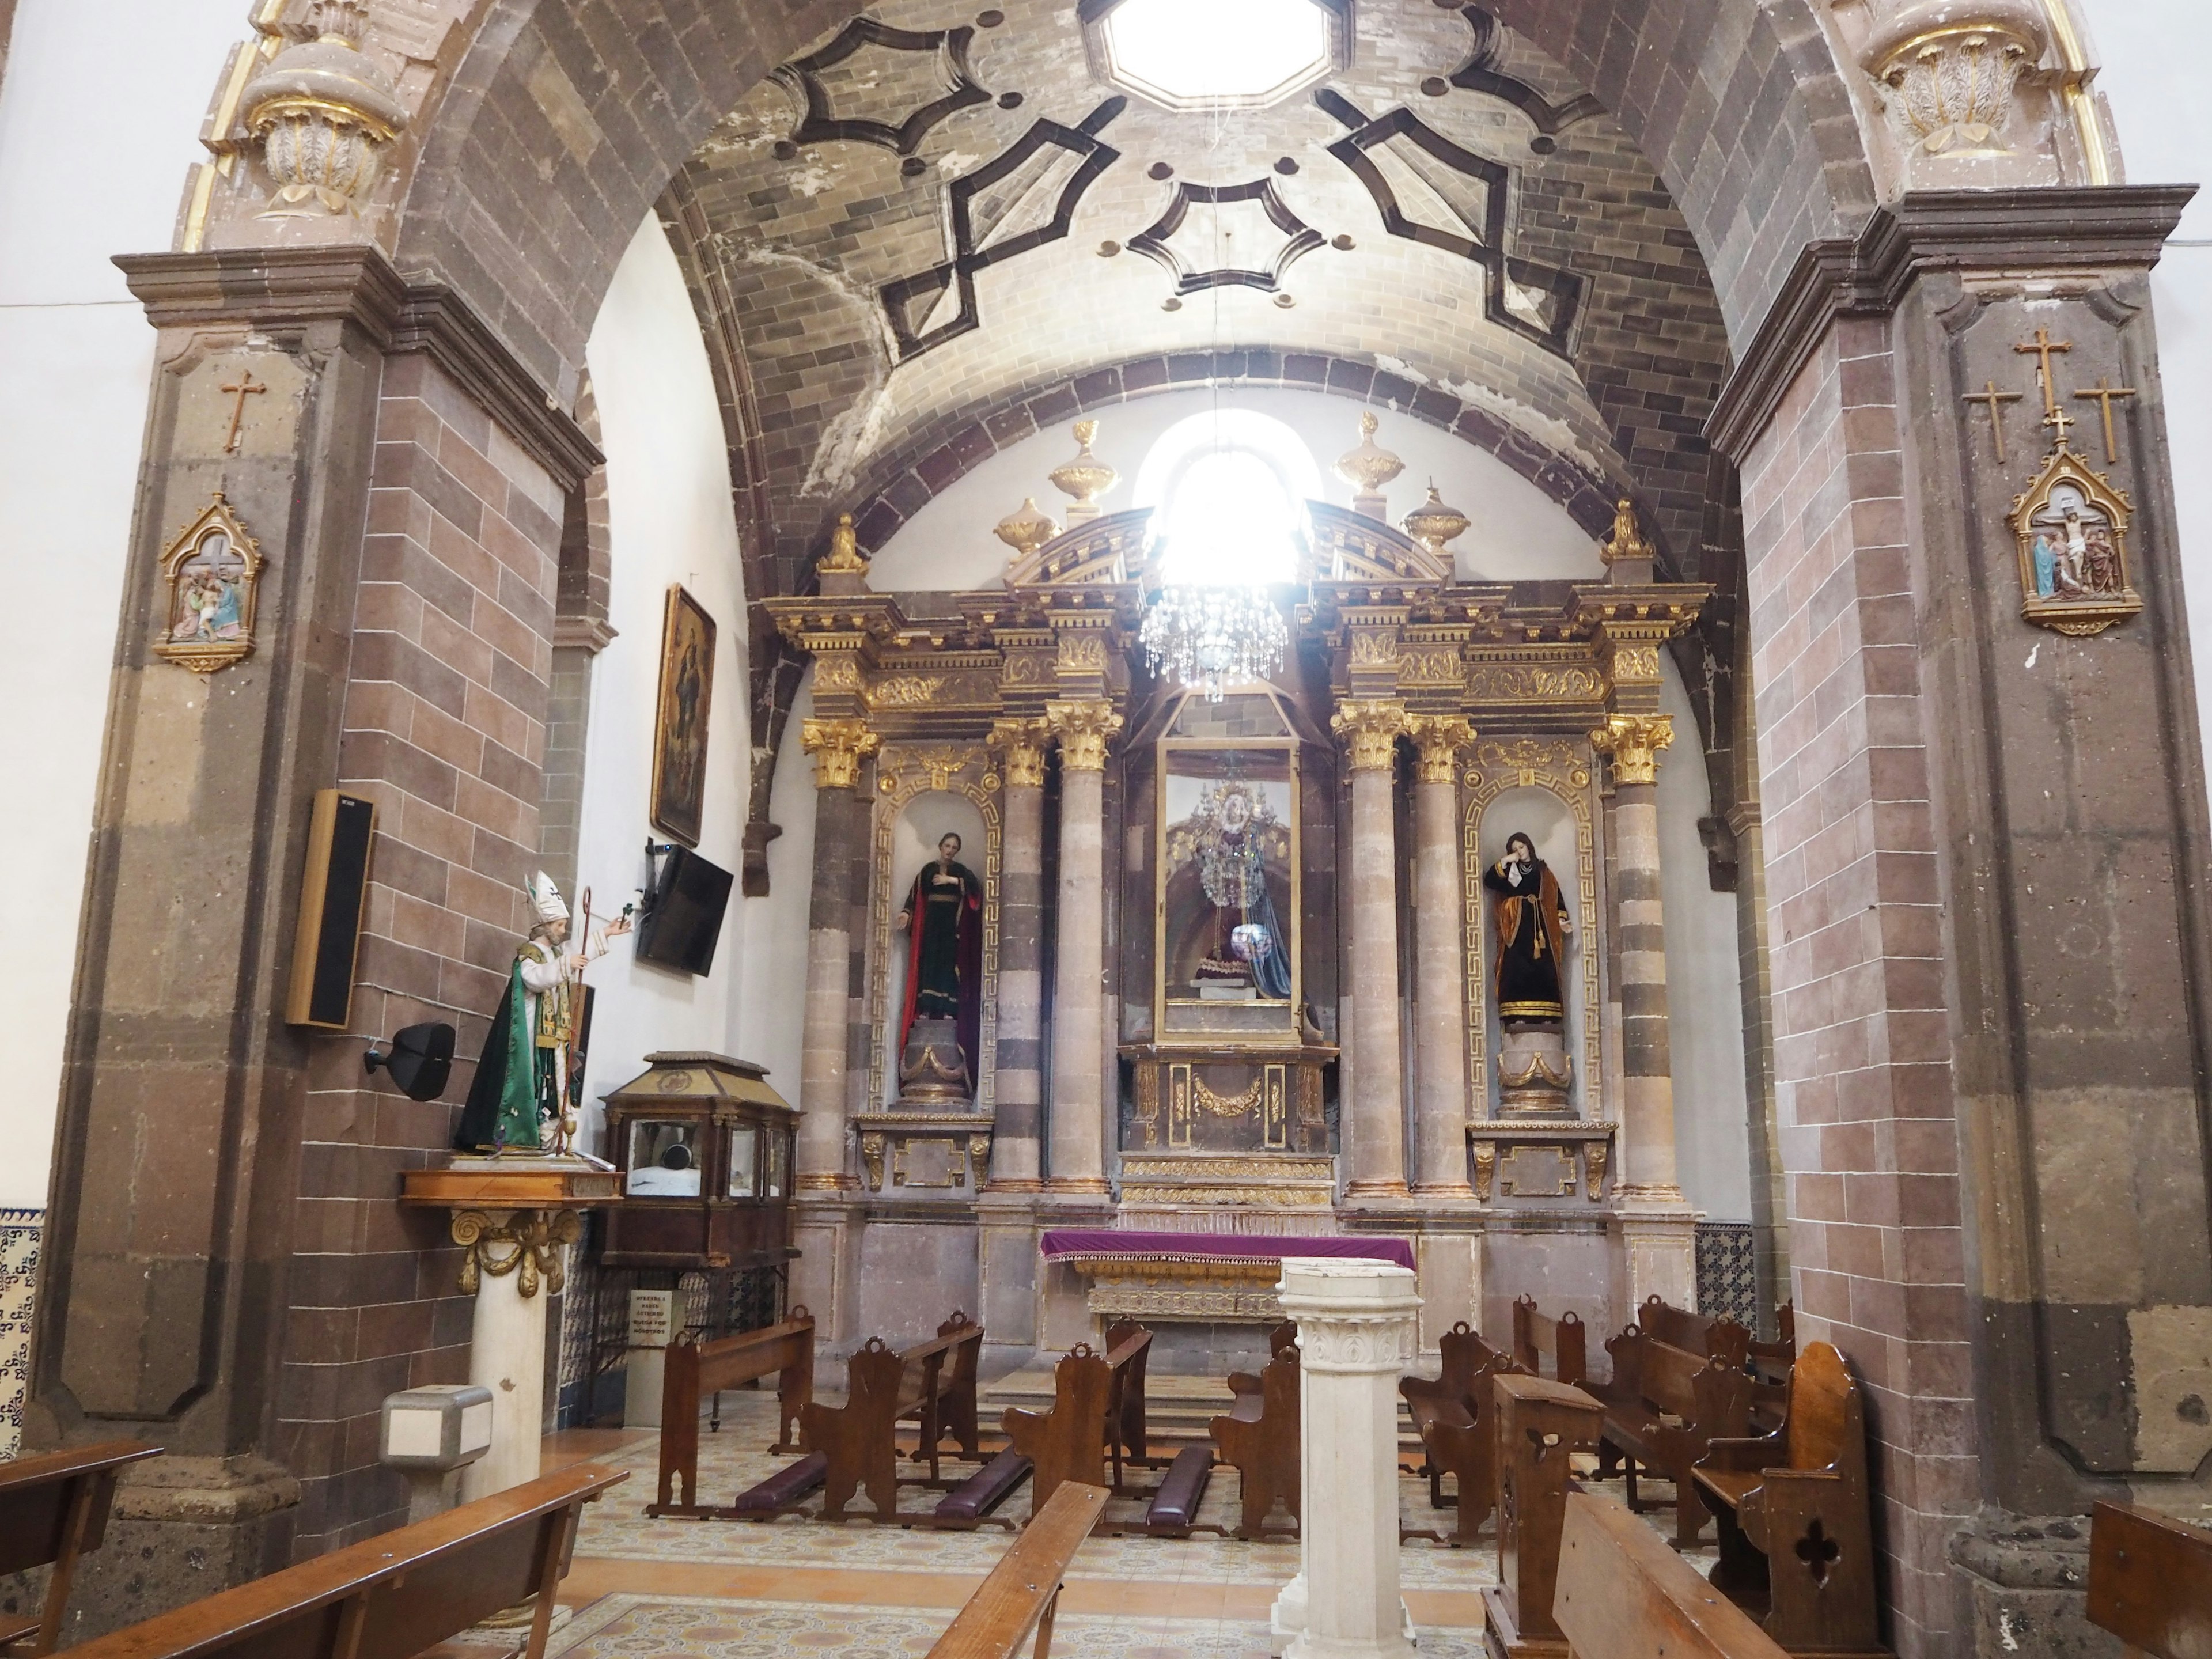
[[606,1212],[608,1267],[765,1267],[792,1256],[799,1113],[765,1068],[710,1053],[653,1053],[606,1097],[606,1155],[622,1197]]

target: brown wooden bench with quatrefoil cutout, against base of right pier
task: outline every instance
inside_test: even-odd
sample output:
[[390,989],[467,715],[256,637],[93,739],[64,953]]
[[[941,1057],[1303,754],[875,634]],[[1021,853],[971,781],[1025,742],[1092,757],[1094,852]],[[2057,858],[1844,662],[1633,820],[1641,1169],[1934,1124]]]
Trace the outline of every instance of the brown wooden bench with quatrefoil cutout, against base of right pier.
[[1827,1343],[1790,1369],[1790,1416],[1756,1438],[1714,1438],[1697,1489],[1721,1531],[1714,1588],[1790,1652],[1878,1655],[1867,1418]]

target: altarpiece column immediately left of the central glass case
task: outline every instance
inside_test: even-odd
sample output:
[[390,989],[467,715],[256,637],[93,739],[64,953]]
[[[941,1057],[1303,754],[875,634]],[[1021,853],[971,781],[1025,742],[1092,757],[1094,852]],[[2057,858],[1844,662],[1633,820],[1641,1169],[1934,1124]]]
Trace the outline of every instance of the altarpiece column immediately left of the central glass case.
[[1104,697],[1051,701],[1060,739],[1060,938],[1053,958],[1053,1168],[1048,1192],[1106,1186],[1106,743],[1121,717]]

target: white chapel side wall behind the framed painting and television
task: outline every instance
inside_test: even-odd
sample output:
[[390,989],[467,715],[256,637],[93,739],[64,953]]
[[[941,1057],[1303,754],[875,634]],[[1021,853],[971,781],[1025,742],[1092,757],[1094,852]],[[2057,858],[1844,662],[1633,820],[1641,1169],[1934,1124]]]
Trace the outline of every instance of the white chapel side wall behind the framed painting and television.
[[[606,451],[613,560],[608,622],[615,626],[615,641],[599,653],[591,675],[577,885],[593,887],[593,907],[606,914],[619,909],[646,880],[646,838],[666,841],[646,812],[653,792],[661,611],[675,582],[717,624],[699,852],[730,872],[739,867],[752,768],[745,723],[745,588],[737,520],[730,513],[730,462],[684,272],[653,217],[615,268],[586,358],[599,400],[599,447]],[[741,1024],[739,987],[745,982],[745,909],[732,891],[714,971],[708,975],[639,962],[628,940],[617,940],[606,960],[591,969],[599,995],[586,1079],[586,1146],[597,1144],[599,1097],[644,1071],[644,1057],[655,1048],[737,1051],[732,1037]],[[794,1088],[796,1064],[774,1082]]]

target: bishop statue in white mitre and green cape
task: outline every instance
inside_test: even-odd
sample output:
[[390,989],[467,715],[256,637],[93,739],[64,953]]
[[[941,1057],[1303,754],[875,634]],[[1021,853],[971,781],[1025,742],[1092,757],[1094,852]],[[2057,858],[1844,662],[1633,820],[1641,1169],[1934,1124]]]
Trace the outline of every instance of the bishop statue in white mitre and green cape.
[[[568,945],[568,905],[542,869],[524,889],[531,936],[515,951],[507,995],[491,1015],[484,1055],[476,1062],[469,1104],[453,1137],[462,1152],[540,1152],[564,1148],[575,1128],[571,1088],[575,1018],[584,1002],[584,969],[606,956],[606,942],[630,931],[624,914],[588,929],[582,951]],[[588,916],[586,916],[588,920]],[[582,1084],[582,1075],[573,1079]]]

